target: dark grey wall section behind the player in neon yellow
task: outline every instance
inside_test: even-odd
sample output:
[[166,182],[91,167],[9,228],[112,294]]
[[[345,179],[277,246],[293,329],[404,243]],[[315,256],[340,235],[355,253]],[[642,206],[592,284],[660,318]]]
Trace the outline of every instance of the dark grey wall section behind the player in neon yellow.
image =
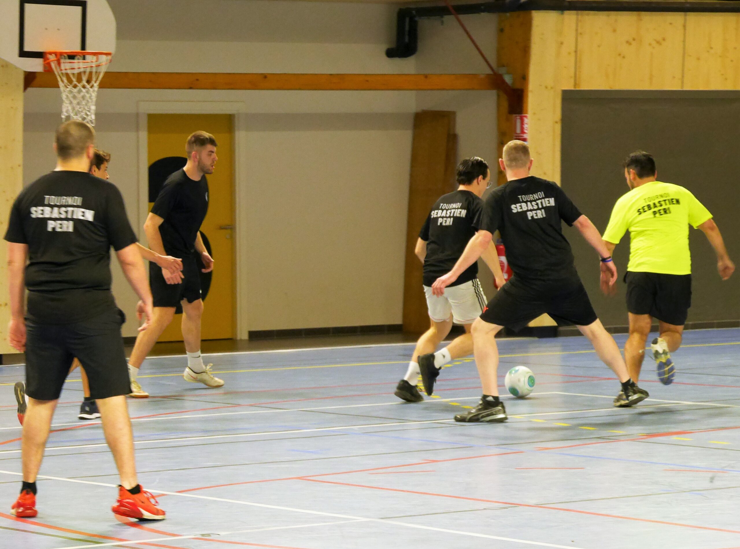
[[[622,161],[636,149],[656,158],[659,181],[693,192],[714,215],[730,257],[740,262],[740,92],[564,90],[562,188],[599,231],[628,191]],[[598,263],[575,229],[566,229],[576,267],[605,326],[625,326],[625,285],[599,292]],[[693,305],[687,323],[740,320],[740,273],[722,282],[703,233],[690,229]],[[620,277],[629,235],[616,248]]]

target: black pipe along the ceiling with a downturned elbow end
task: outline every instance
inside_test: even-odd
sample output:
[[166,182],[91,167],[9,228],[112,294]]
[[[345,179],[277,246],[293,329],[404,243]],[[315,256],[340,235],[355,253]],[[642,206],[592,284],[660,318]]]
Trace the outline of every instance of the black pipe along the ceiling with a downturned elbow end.
[[[631,11],[653,13],[740,13],[738,0],[492,0],[478,4],[457,4],[461,16],[516,11]],[[411,57],[419,46],[419,19],[451,16],[446,6],[402,7],[396,18],[396,45],[387,57]]]

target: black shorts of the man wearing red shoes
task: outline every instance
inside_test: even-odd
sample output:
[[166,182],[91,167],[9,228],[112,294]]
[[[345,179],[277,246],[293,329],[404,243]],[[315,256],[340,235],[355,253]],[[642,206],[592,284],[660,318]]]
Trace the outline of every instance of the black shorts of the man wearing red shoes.
[[90,380],[92,398],[129,394],[129,368],[120,309],[71,324],[26,323],[26,392],[36,400],[56,400],[78,358]]

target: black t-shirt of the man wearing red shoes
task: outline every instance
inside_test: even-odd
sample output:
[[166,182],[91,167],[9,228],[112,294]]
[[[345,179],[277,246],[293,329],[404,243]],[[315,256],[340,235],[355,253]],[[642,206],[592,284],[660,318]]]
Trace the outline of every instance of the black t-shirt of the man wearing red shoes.
[[28,245],[27,318],[73,323],[115,307],[110,246],[136,242],[121,192],[86,172],[51,172],[24,189],[5,240]]

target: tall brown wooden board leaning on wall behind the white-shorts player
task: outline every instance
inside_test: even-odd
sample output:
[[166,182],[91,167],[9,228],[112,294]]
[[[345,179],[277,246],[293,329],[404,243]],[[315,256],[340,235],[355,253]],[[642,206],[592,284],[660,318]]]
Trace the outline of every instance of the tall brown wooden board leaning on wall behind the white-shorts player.
[[411,334],[421,334],[429,328],[422,264],[414,255],[414,247],[431,206],[441,195],[454,189],[452,175],[457,158],[454,132],[454,112],[422,111],[414,116],[403,283],[403,331]]

